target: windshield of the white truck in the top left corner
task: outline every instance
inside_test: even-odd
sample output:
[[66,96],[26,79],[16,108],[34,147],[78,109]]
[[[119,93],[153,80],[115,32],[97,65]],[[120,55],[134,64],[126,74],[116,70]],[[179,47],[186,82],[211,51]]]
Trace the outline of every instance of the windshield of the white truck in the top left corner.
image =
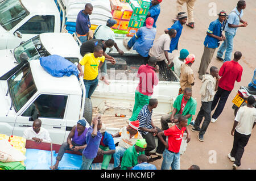
[[13,29],[29,12],[20,0],[6,0],[0,3],[0,24],[5,30]]

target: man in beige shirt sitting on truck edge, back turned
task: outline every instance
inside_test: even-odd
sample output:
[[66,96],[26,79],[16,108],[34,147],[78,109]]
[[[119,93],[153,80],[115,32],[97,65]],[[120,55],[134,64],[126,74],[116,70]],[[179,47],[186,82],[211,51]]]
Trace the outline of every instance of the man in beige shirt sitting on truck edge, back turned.
[[168,53],[170,50],[170,44],[171,39],[174,38],[177,34],[177,31],[175,29],[171,29],[168,34],[164,33],[157,39],[153,46],[151,47],[148,55],[150,57],[155,57],[157,61],[164,61],[167,60],[167,68],[169,69],[169,66],[172,63],[173,54]]

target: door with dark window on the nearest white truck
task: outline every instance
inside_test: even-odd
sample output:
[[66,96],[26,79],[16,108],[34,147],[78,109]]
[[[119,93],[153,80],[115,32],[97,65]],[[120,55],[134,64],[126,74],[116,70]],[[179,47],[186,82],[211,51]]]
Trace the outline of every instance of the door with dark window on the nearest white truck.
[[31,127],[33,121],[31,115],[36,110],[42,127],[47,129],[53,143],[62,144],[65,137],[67,121],[65,108],[67,106],[68,95],[40,94],[30,106],[21,113],[15,123],[14,135],[21,135],[27,127]]

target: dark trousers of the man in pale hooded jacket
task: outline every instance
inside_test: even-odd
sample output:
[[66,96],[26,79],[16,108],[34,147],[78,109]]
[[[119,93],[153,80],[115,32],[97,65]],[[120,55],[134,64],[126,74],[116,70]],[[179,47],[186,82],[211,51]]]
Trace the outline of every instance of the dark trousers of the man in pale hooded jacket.
[[208,125],[209,125],[210,120],[211,120],[210,112],[212,111],[211,110],[212,101],[210,101],[210,102],[201,102],[201,103],[202,103],[202,106],[200,108],[199,113],[196,116],[194,127],[195,128],[200,128],[200,124],[201,124],[201,122],[203,120],[203,117],[204,117],[204,122],[202,124],[202,128],[201,128],[201,131],[200,131],[200,134],[204,135],[204,133],[207,131]]

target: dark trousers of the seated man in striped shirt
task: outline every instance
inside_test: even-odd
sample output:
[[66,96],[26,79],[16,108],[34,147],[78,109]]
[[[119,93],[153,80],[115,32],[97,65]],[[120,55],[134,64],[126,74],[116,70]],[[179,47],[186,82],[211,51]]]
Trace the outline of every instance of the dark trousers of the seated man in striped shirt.
[[[158,127],[156,127],[156,129],[158,129],[158,133],[162,132],[162,130]],[[155,149],[155,137],[157,138],[157,136],[153,136],[153,133],[148,132],[147,134],[143,135],[142,137],[146,140],[147,142],[147,147],[145,149],[145,154],[148,154],[150,151]],[[156,148],[156,152],[157,153],[163,153],[164,151],[164,145],[162,143],[162,141],[160,141],[158,139],[158,147]]]

